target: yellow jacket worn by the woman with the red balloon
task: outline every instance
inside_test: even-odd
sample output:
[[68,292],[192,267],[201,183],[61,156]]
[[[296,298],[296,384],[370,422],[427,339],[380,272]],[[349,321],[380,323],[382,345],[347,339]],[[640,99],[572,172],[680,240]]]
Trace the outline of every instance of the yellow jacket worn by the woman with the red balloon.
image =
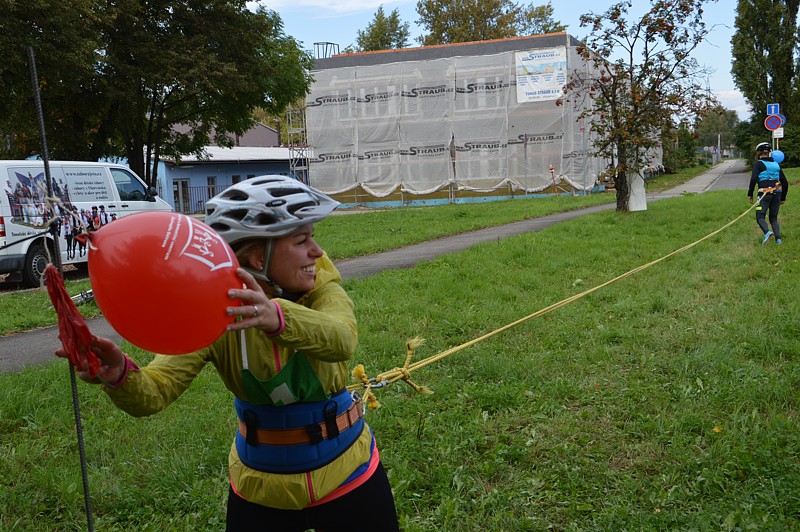
[[[341,275],[327,255],[317,259],[314,288],[297,302],[277,298],[285,328],[277,336],[245,329],[248,366],[259,379],[276,374],[274,357],[284,367],[302,351],[328,396],[349,382],[349,359],[358,342],[353,303],[339,285]],[[241,333],[227,332],[209,347],[186,355],[156,355],[140,370],[132,370],[119,388],[105,387],[111,400],[133,416],[147,416],[166,408],[192,383],[207,362],[216,367],[225,386],[247,400],[242,385]],[[231,427],[235,435],[236,426]],[[233,489],[244,499],[283,509],[302,509],[319,501],[370,461],[372,432],[361,436],[333,462],[306,473],[266,473],[245,466],[231,446],[228,457]]]

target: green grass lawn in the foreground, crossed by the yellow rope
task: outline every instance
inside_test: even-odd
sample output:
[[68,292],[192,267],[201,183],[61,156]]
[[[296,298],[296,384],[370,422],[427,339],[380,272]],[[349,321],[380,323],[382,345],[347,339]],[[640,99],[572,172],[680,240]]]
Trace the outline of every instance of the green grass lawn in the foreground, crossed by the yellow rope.
[[[800,527],[791,199],[782,246],[760,245],[750,211],[684,253],[414,373],[433,395],[402,383],[378,392],[383,406],[367,419],[403,530]],[[426,340],[418,359],[458,346],[695,242],[748,207],[741,191],[685,195],[349,280],[360,327],[353,362],[370,375],[401,365],[415,336]],[[330,222],[363,223],[350,218]],[[343,237],[325,224],[319,240],[333,249]],[[69,390],[61,361],[0,375],[0,529],[85,528]],[[213,368],[145,419],[117,411],[96,387],[79,383],[79,392],[99,530],[224,527],[235,414]],[[354,529],[379,525],[353,516]]]

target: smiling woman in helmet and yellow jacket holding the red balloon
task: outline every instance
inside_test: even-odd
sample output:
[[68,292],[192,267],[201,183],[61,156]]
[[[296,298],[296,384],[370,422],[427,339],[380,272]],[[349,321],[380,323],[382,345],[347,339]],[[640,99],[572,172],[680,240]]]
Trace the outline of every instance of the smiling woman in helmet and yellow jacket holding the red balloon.
[[[345,389],[358,333],[336,267],[313,224],[338,203],[285,176],[262,176],[207,203],[206,223],[242,268],[239,316],[212,345],[139,368],[98,338],[98,378],[134,416],[166,408],[211,362],[239,418],[228,459],[228,530],[398,530],[394,500],[357,396]],[[198,287],[202,289],[202,287]],[[64,356],[63,352],[57,353]]]

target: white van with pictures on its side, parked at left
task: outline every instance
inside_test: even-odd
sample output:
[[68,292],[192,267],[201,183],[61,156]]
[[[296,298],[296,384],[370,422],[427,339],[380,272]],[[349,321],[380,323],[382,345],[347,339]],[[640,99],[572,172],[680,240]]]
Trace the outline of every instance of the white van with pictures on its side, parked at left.
[[[52,254],[54,235],[59,240],[62,264],[86,267],[88,250],[74,238],[84,227],[144,211],[172,211],[130,168],[112,163],[53,161],[50,163],[53,195],[61,200],[56,212],[48,210],[43,161],[0,161],[0,274],[7,280],[39,286]],[[96,212],[97,216],[91,216]],[[57,218],[54,230],[47,223]],[[92,222],[95,222],[93,224]]]

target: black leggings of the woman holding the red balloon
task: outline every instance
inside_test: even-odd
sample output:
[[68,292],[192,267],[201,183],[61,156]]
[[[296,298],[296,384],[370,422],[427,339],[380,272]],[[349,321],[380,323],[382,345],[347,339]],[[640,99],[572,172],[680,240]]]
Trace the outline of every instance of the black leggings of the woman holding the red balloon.
[[369,480],[331,502],[303,510],[280,510],[246,501],[228,493],[228,532],[269,530],[275,532],[399,531],[392,488],[383,464]]

